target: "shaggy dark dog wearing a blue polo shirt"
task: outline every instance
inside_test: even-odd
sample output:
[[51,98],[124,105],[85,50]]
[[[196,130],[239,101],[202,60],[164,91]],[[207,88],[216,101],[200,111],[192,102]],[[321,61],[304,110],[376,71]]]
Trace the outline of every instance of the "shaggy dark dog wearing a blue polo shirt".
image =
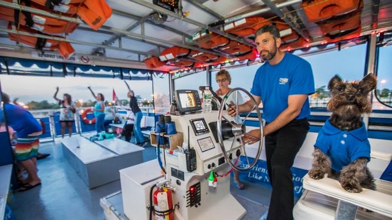
[[346,82],[334,76],[328,83],[331,117],[318,132],[309,176],[322,179],[325,174],[338,180],[349,192],[376,189],[373,175],[366,167],[370,161],[370,143],[361,115],[371,113],[368,94],[376,88],[377,78],[366,75],[361,81]]

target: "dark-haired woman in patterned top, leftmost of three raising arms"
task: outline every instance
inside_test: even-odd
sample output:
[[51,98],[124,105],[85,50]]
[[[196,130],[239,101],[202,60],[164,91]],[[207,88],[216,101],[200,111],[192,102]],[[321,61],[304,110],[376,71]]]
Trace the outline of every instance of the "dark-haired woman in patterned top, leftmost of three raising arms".
[[55,95],[53,96],[60,105],[60,123],[61,123],[61,137],[64,138],[65,128],[68,127],[69,137],[72,134],[72,124],[75,122],[76,109],[72,104],[71,96],[68,93],[64,93],[63,100],[57,98],[59,87],[57,86]]

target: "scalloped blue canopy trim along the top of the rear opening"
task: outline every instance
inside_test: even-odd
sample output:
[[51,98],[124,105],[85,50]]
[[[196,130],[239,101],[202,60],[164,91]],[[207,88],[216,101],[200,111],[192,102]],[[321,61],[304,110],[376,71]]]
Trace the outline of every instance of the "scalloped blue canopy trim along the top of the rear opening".
[[[39,61],[21,58],[0,57],[0,74],[44,77],[99,77],[122,80],[152,80],[153,73],[148,69],[132,69],[95,65],[80,65]],[[159,72],[166,73],[166,72]]]

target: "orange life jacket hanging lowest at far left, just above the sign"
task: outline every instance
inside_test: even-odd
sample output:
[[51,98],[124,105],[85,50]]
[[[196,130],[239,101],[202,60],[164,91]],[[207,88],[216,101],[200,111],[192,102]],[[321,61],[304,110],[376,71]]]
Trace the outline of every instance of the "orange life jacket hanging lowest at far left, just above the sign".
[[[8,29],[12,29],[11,23],[8,25]],[[36,30],[24,26],[19,26],[18,30],[23,32],[38,33]],[[18,35],[14,33],[8,33],[8,36],[13,41],[25,43],[27,45],[33,46],[34,48],[40,51],[42,51],[43,48],[57,50],[64,59],[68,59],[69,56],[75,53],[74,48],[68,42],[52,40],[52,39],[43,39],[43,38],[26,36],[21,34]]]

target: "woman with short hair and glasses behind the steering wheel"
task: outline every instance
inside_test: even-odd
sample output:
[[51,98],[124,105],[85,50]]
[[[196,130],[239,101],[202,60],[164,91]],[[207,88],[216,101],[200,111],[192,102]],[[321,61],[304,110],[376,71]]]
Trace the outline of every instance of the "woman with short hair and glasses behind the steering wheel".
[[[215,80],[219,86],[219,89],[216,90],[215,93],[223,99],[223,97],[225,97],[225,95],[231,90],[231,88],[229,87],[229,85],[231,84],[231,76],[227,70],[222,69],[216,73]],[[229,97],[227,97],[226,103],[224,103],[224,105],[230,104],[231,102],[237,103],[237,97],[235,93],[232,93]],[[242,95],[239,92],[238,92],[238,104],[243,104]],[[238,119],[239,121],[236,121],[236,123],[241,123],[241,119],[240,118]],[[235,159],[233,160],[233,163],[236,163],[236,165],[239,166],[240,160],[237,161]],[[243,189],[244,185],[239,181],[238,170],[233,169],[233,173],[234,173],[234,183],[237,185],[238,189]]]

